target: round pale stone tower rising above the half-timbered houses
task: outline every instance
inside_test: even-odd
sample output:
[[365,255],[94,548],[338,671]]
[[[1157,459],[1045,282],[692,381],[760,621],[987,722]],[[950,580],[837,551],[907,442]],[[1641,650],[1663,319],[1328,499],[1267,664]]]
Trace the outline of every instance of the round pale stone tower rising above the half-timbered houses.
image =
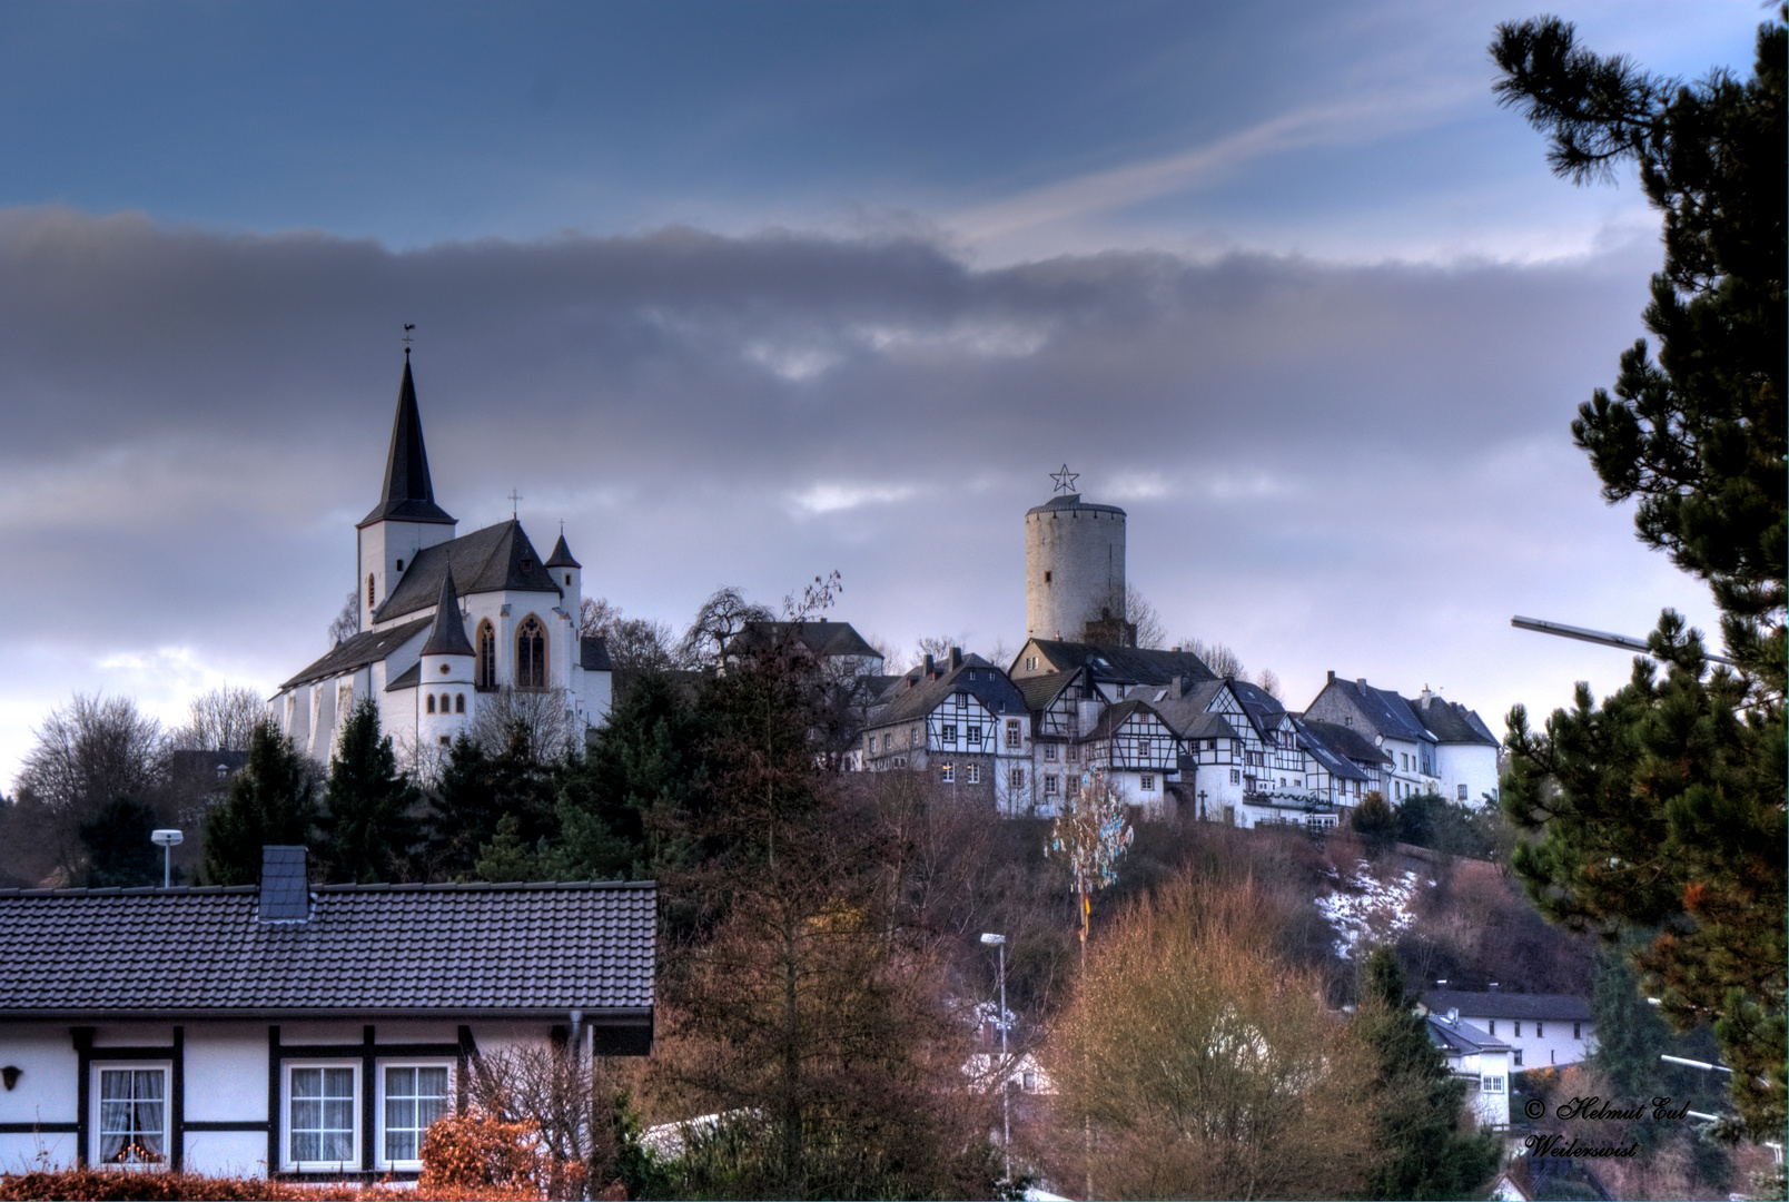
[[[1025,512],[1025,637],[1081,642],[1123,597],[1123,510],[1050,497]],[[1111,617],[1122,619],[1120,612]]]

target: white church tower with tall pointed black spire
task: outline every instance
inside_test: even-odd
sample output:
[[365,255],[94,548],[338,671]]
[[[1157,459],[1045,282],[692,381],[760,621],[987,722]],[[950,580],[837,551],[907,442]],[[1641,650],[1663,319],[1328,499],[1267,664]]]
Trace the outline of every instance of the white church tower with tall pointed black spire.
[[415,553],[453,538],[454,519],[435,504],[429,456],[422,445],[422,413],[417,408],[417,383],[404,351],[404,379],[397,388],[397,415],[392,419],[392,447],[385,461],[379,503],[360,521],[360,628],[372,630],[372,615],[403,578]]

